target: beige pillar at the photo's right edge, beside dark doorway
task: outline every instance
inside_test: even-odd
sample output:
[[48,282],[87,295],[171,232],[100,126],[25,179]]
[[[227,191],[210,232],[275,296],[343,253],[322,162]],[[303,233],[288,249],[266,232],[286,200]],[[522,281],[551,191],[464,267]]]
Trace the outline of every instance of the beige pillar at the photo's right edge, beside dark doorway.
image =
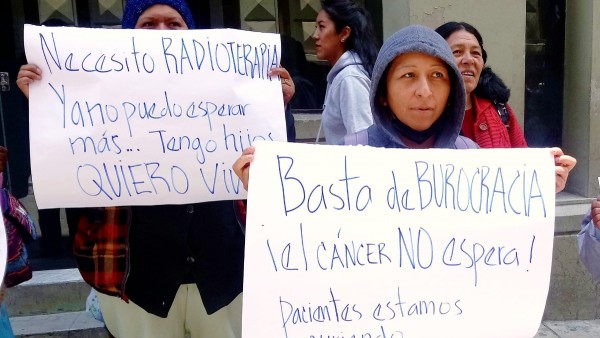
[[578,164],[569,191],[600,192],[600,3],[567,1],[563,147]]

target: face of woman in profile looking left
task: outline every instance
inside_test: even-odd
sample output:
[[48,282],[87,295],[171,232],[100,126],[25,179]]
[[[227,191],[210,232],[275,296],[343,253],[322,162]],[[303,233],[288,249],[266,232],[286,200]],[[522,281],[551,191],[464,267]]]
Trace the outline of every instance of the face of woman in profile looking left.
[[[342,31],[343,33],[343,31]],[[335,30],[335,23],[331,20],[327,12],[319,11],[317,15],[315,32],[315,50],[317,58],[327,60],[330,64],[335,64],[344,54],[344,43],[342,42],[342,33],[338,34]]]

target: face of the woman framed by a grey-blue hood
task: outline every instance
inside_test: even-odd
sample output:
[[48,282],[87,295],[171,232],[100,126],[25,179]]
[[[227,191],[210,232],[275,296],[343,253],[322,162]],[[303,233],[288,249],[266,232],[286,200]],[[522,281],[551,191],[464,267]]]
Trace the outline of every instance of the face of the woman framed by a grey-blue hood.
[[423,131],[440,118],[450,95],[446,64],[422,53],[402,54],[390,65],[386,78],[388,105],[400,122]]

